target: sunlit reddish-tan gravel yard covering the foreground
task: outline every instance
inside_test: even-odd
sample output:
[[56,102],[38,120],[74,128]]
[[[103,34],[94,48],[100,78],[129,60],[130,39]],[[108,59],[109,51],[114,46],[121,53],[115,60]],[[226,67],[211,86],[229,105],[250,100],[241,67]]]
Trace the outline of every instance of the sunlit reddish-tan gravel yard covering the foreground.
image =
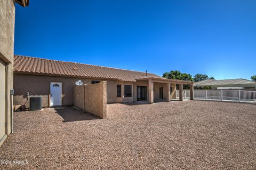
[[108,118],[65,109],[14,113],[1,169],[256,169],[256,105],[108,104]]

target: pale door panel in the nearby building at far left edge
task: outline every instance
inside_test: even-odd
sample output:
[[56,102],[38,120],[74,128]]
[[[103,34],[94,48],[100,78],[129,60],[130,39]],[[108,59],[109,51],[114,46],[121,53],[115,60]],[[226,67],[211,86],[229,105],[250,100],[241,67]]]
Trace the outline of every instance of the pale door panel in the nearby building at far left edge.
[[5,135],[5,63],[0,59],[0,140]]

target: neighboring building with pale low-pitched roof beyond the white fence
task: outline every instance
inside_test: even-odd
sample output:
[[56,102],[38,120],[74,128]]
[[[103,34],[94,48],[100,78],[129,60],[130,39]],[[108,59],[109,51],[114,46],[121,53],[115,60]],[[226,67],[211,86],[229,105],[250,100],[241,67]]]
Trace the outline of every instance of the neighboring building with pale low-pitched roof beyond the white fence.
[[207,79],[200,82],[196,82],[195,87],[210,86],[211,89],[250,89],[256,88],[256,82],[251,80],[237,78],[237,79],[225,79],[225,80],[213,80]]

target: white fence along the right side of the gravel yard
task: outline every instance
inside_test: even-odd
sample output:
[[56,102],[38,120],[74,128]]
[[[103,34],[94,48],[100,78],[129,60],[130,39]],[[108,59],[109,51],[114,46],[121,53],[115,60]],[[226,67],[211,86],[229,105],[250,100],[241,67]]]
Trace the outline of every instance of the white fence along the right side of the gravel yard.
[[213,100],[256,103],[256,91],[245,90],[195,90],[195,100]]

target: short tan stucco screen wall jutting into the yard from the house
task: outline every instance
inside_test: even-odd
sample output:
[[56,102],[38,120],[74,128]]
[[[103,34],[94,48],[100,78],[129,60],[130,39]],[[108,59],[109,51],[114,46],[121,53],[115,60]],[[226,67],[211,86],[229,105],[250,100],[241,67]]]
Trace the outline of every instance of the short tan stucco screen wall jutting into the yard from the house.
[[[84,95],[81,95],[84,93]],[[107,118],[107,82],[75,86],[76,107],[82,108],[100,118]],[[77,104],[79,103],[79,104]],[[81,107],[81,104],[84,106]]]

